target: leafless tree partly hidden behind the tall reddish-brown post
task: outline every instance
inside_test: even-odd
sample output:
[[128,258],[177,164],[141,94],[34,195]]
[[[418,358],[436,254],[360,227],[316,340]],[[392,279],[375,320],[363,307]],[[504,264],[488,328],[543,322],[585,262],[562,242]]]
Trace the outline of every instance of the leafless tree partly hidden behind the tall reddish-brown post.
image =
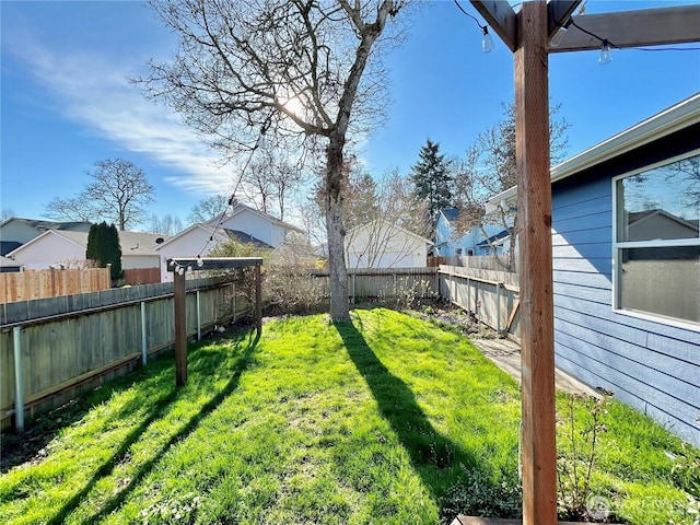
[[[561,162],[568,145],[568,122],[557,118],[560,106],[550,108],[549,142],[552,164]],[[467,149],[459,162],[455,176],[456,200],[459,208],[456,235],[464,235],[472,228],[480,228],[489,243],[491,252],[501,266],[515,270],[515,246],[517,242],[517,210],[512,207],[499,207],[494,212],[486,213],[486,202],[494,195],[515,186],[515,105],[503,106],[503,117],[491,128],[479,135],[476,142]],[[495,240],[487,233],[488,224],[501,226],[510,235],[511,249],[508,258],[499,255]]]

